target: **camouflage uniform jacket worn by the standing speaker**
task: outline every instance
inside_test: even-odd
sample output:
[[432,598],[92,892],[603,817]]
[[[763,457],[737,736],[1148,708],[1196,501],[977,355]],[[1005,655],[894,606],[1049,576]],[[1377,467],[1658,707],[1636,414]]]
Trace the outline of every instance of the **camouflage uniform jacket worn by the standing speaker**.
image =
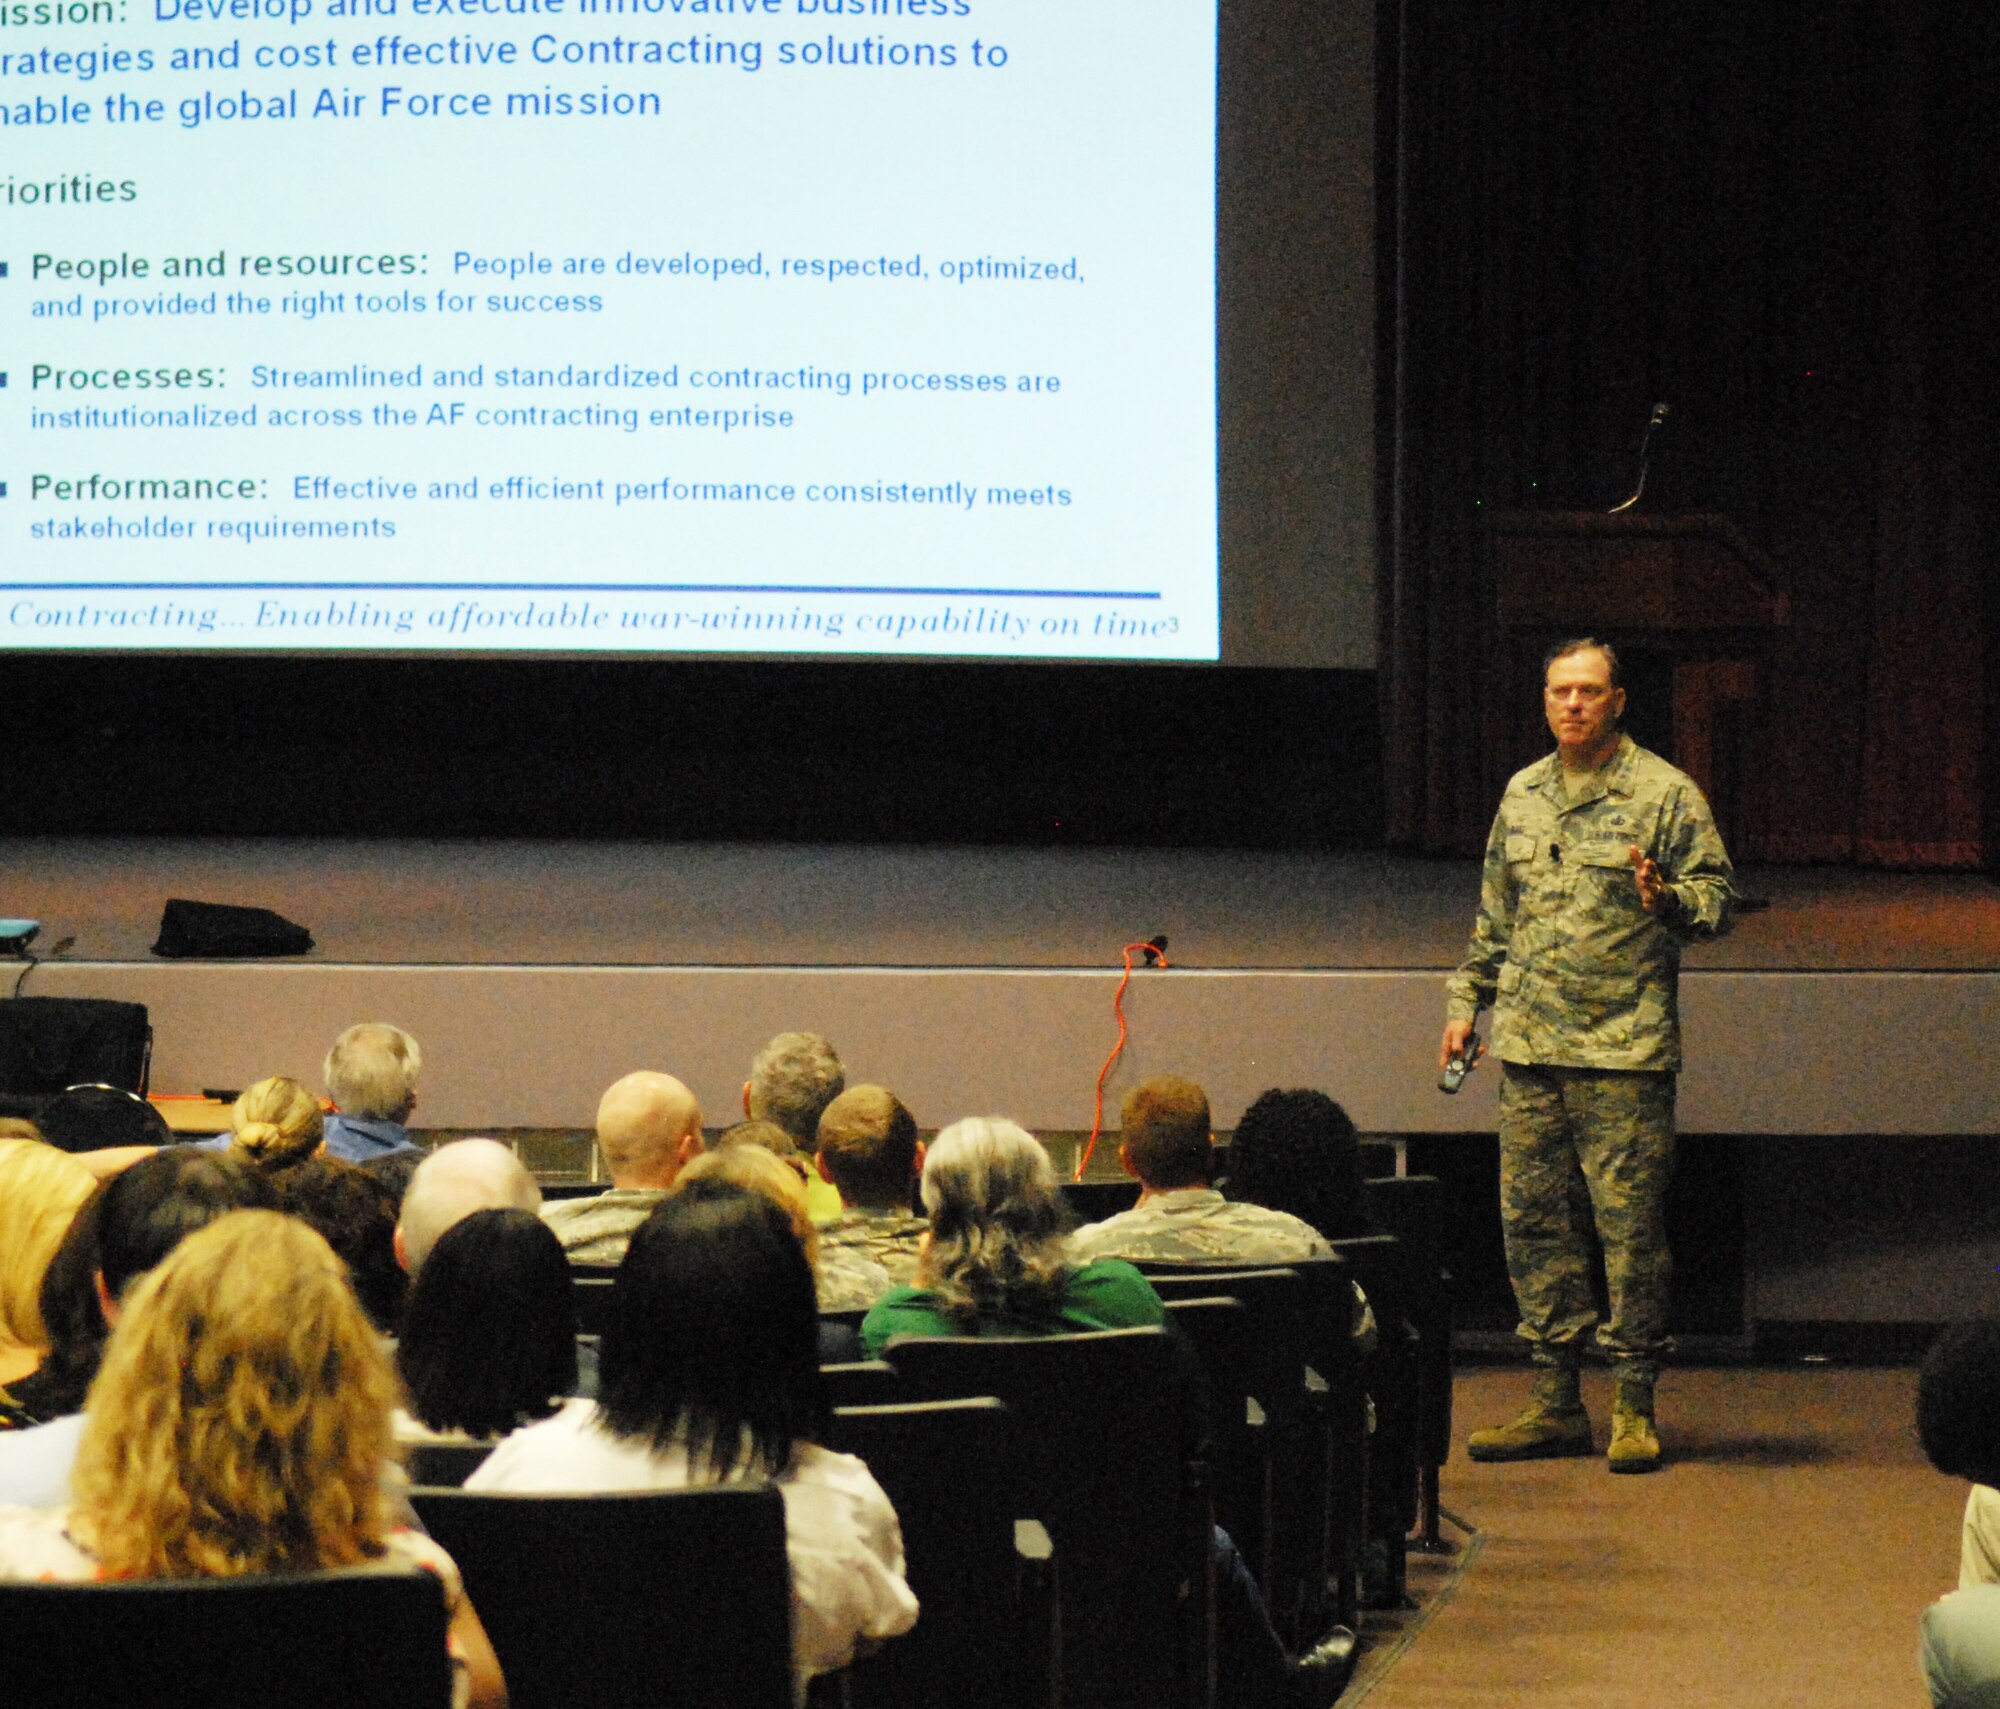
[[[1630,848],[1672,895],[1648,915]],[[1702,792],[1630,736],[1570,800],[1562,756],[1500,798],[1446,1019],[1492,1005],[1492,1053],[1554,1069],[1680,1069],[1680,949],[1730,927],[1730,857]]]

